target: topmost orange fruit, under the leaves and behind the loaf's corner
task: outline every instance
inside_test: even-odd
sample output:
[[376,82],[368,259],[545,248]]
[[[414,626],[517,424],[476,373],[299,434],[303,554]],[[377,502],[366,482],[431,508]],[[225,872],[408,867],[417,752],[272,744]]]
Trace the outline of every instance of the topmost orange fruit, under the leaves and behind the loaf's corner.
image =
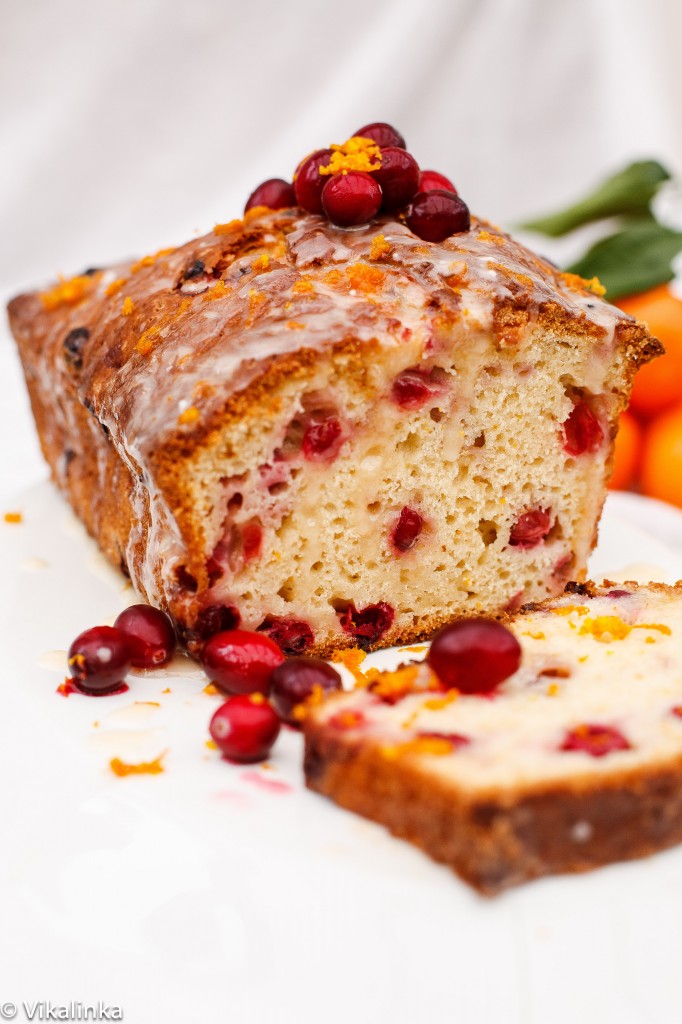
[[635,377],[630,407],[640,416],[655,416],[682,401],[682,299],[668,285],[619,299],[617,305],[636,319],[644,321],[666,354],[658,356]]

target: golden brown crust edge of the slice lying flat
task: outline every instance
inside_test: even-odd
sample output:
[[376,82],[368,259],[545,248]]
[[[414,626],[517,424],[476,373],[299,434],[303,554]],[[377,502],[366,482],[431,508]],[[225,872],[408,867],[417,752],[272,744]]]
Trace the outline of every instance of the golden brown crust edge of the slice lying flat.
[[386,825],[485,896],[544,874],[587,871],[682,842],[682,756],[600,781],[466,800],[409,757],[305,723],[309,788]]

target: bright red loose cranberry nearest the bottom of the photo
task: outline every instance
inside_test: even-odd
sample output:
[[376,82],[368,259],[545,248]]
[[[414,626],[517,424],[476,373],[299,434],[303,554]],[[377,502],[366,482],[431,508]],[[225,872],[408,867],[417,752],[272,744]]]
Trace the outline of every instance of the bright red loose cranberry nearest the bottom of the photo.
[[218,708],[209,732],[230,761],[262,761],[280,735],[280,719],[262,693],[240,693]]

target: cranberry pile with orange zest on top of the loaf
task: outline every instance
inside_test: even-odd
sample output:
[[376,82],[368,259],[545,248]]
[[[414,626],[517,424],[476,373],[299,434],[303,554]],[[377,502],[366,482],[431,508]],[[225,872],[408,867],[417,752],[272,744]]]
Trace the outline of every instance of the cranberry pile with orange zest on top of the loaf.
[[342,145],[315,150],[300,162],[291,183],[283,178],[263,181],[245,212],[256,206],[299,206],[338,227],[392,213],[428,242],[467,231],[470,223],[468,207],[453,182],[438,171],[421,170],[402,135],[384,122],[364,125]]

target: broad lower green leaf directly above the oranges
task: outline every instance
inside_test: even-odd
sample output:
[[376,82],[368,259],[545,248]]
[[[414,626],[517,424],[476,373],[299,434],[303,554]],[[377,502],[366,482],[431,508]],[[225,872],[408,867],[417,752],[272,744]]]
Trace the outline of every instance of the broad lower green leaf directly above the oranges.
[[681,251],[682,231],[647,218],[597,242],[568,270],[599,278],[612,301],[672,281],[672,260]]

